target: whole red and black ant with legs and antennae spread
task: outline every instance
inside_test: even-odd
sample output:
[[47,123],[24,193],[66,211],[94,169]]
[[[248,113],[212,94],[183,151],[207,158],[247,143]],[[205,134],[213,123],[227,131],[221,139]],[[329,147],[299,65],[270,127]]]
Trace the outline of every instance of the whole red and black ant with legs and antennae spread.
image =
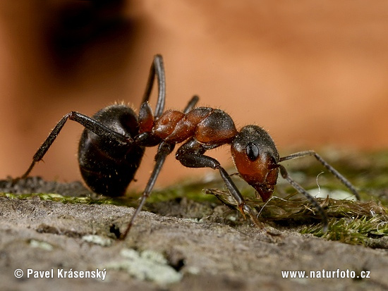
[[[148,104],[150,94],[157,77],[158,98],[155,111]],[[133,176],[140,165],[145,147],[158,146],[155,165],[147,182],[140,204],[121,234],[125,239],[131,226],[150,196],[157,176],[162,169],[166,156],[171,154],[176,144],[184,142],[176,151],[176,159],[189,168],[212,168],[218,170],[224,183],[234,198],[237,209],[245,217],[248,213],[256,225],[261,223],[254,211],[245,204],[240,191],[231,180],[230,175],[220,163],[205,151],[231,144],[231,156],[239,175],[256,190],[265,202],[274,192],[279,173],[299,193],[317,209],[322,217],[324,230],[327,230],[328,218],[317,200],[301,185],[295,182],[280,164],[282,161],[301,156],[314,156],[335,177],[348,187],[357,199],[357,190],[343,175],[329,165],[315,151],[301,151],[289,156],[280,157],[272,137],[257,125],[246,125],[237,130],[231,116],[226,112],[210,107],[195,107],[198,97],[194,96],[183,111],[164,111],[166,85],[162,56],[154,56],[150,75],[148,76],[145,94],[138,116],[135,111],[124,104],[113,104],[95,113],[92,118],[76,111],[63,116],[51,131],[42,146],[33,156],[28,170],[20,177],[30,174],[35,163],[41,161],[67,120],[73,120],[85,129],[80,137],[78,163],[80,173],[86,184],[97,194],[117,197],[125,194]]]

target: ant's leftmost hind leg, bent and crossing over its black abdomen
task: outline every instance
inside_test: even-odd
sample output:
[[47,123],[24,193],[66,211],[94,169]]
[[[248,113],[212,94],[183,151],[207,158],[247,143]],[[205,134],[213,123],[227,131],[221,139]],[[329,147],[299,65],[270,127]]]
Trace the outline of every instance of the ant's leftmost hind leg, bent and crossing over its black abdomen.
[[83,125],[88,130],[91,130],[96,135],[107,137],[111,140],[116,140],[116,142],[119,142],[121,144],[130,144],[131,142],[133,142],[131,137],[127,137],[125,135],[119,134],[118,132],[114,132],[113,130],[107,128],[105,125],[99,123],[97,120],[94,120],[93,118],[85,116],[76,111],[71,111],[70,113],[66,114],[66,116],[63,116],[61,120],[59,120],[59,123],[56,124],[54,130],[50,132],[47,139],[43,142],[43,144],[33,156],[32,163],[28,170],[25,171],[25,173],[20,178],[16,178],[15,181],[26,178],[30,174],[32,168],[34,168],[35,166],[35,163],[43,159],[44,154],[46,154],[46,152],[49,150],[51,144],[54,142],[56,137],[58,137],[59,132],[61,132],[63,125],[65,125],[66,121],[69,119],[80,123],[80,125]]

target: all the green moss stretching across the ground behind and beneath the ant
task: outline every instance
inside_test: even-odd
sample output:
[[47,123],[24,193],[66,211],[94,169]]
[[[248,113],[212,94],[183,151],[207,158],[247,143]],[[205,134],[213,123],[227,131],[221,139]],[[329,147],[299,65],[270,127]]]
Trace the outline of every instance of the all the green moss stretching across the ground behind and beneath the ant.
[[[329,216],[329,230],[322,232],[320,216],[303,196],[296,193],[287,182],[279,178],[274,196],[267,203],[255,198],[253,188],[234,175],[232,178],[247,203],[255,208],[264,223],[274,223],[281,228],[298,230],[303,234],[313,234],[327,240],[337,240],[350,244],[368,245],[370,240],[388,235],[388,151],[369,153],[325,151],[322,156],[337,168],[353,185],[360,190],[362,202],[347,199],[317,198]],[[329,158],[328,158],[329,157]],[[346,190],[346,187],[334,178],[312,157],[286,161],[289,174],[306,190],[320,187],[322,192]],[[234,173],[236,169],[229,171]],[[322,171],[324,173],[322,173]],[[320,174],[322,173],[322,174]],[[214,175],[213,175],[214,174]],[[205,194],[207,193],[207,195]],[[19,199],[52,200],[62,203],[80,204],[115,204],[138,206],[140,192],[130,192],[127,197],[108,199],[99,197],[65,197],[60,194],[0,194],[1,196]],[[350,194],[349,194],[350,196]],[[152,191],[147,205],[157,202],[174,201],[186,197],[195,202],[224,203],[236,207],[234,199],[225,190],[224,182],[217,172],[212,172],[205,180],[186,180],[162,190]],[[221,202],[219,201],[221,200]],[[145,207],[147,209],[147,207]]]

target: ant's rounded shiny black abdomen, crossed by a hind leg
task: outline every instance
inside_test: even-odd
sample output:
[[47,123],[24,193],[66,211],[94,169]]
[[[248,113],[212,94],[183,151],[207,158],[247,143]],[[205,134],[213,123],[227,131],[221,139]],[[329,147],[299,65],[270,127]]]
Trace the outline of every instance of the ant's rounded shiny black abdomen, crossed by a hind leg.
[[[122,135],[138,135],[138,117],[123,104],[108,106],[93,116]],[[119,144],[85,129],[78,147],[78,163],[86,184],[94,192],[111,197],[125,194],[144,154],[144,148]]]

